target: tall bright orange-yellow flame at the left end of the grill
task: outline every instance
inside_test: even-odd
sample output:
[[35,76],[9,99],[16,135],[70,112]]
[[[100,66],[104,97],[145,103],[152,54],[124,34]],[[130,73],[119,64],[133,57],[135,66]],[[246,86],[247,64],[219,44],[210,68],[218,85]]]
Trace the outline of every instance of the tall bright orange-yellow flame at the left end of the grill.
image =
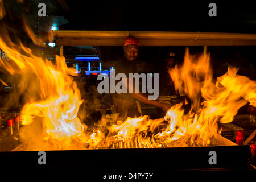
[[[34,56],[28,48],[22,47],[28,56],[20,56],[1,41],[1,49],[6,52],[13,65],[2,60],[1,67],[10,73],[18,72],[22,77],[20,85],[27,103],[22,109],[23,125],[30,125],[35,118],[40,118],[44,139],[57,139],[63,146],[68,146],[71,137],[80,136],[82,126],[77,112],[82,103],[80,91],[71,76],[74,70],[68,68],[64,57],[56,56],[56,63]],[[28,83],[31,81],[31,83]]]

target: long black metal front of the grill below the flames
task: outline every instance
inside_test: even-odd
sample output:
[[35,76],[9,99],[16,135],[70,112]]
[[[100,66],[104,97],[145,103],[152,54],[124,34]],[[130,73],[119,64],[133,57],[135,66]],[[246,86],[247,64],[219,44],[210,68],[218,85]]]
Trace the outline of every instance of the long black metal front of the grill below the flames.
[[[163,171],[185,169],[245,169],[249,157],[249,146],[237,146],[218,135],[218,146],[209,147],[165,147],[165,148],[122,148],[98,150],[46,151],[46,166],[37,163],[38,151],[1,152],[4,166],[48,168],[86,171],[150,170],[157,167]],[[210,151],[216,152],[216,164],[210,164]],[[95,172],[95,171],[94,171]]]

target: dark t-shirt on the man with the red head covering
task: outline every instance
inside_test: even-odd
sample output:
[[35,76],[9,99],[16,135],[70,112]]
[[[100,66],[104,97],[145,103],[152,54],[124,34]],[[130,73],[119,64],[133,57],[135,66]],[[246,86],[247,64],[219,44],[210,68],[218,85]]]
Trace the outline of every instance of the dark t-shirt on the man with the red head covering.
[[[124,73],[127,78],[129,78],[129,73],[137,73],[137,68],[136,68],[136,62],[135,61],[130,61],[127,60],[126,57],[123,57],[123,59],[119,60],[118,63],[115,65],[115,76],[118,73]],[[115,81],[115,84],[117,84],[119,80]],[[127,90],[128,92],[128,90]],[[130,102],[135,102],[135,98],[131,97],[129,93],[115,93],[114,97],[117,98],[122,98],[123,100],[130,101]]]

